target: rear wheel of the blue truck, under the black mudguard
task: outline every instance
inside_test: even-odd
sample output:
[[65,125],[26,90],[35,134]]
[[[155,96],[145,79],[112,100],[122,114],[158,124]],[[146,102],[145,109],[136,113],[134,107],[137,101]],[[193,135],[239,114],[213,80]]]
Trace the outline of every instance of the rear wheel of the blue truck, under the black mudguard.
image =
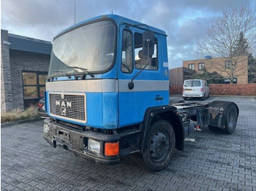
[[238,110],[235,104],[231,104],[227,109],[227,120],[225,128],[222,129],[223,133],[232,134],[236,130],[236,122],[238,120]]

